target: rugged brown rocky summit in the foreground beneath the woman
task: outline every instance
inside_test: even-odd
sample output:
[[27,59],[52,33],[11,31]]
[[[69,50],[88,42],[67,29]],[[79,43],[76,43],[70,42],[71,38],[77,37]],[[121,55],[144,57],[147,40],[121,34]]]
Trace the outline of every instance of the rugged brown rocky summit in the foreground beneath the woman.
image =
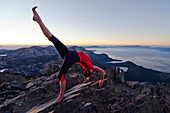
[[[81,75],[81,67],[73,65],[66,75],[64,99],[54,104],[59,94],[58,70],[52,64],[43,75],[23,76],[1,73],[0,113],[169,113],[170,84],[124,80],[119,68],[105,70],[103,86],[99,73],[92,81]],[[51,69],[52,68],[52,69]],[[50,71],[51,70],[51,71]],[[76,71],[73,71],[76,70]]]

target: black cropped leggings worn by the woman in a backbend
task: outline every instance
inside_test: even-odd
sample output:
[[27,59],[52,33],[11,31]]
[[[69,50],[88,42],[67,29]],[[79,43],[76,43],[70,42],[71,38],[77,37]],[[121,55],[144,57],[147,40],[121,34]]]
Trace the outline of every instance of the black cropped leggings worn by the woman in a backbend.
[[68,48],[60,42],[56,37],[52,35],[49,39],[58,50],[60,56],[63,58],[63,63],[60,68],[58,78],[61,81],[61,77],[67,73],[68,69],[75,64],[76,62],[80,61],[78,53],[76,51],[69,51]]

